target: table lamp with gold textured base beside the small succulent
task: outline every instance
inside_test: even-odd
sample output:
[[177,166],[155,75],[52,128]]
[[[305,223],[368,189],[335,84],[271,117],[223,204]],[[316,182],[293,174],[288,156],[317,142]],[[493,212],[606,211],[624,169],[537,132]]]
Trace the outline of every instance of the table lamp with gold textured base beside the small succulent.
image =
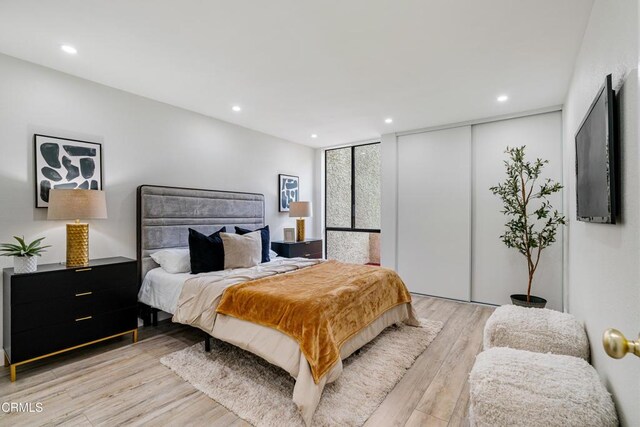
[[104,191],[55,190],[49,191],[47,219],[75,219],[67,224],[67,267],[89,264],[89,224],[81,219],[107,218]]

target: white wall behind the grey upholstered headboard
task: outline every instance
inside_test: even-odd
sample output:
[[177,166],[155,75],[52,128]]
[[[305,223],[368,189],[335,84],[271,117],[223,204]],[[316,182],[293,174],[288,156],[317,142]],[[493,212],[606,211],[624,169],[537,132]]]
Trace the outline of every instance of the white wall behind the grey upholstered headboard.
[[[278,173],[298,175],[301,198],[314,201],[310,147],[0,55],[0,241],[46,236],[43,263],[65,259],[65,221],[34,208],[34,133],[103,144],[109,219],[90,222],[92,258],[135,258],[140,184],[263,193],[274,239],[295,226],[278,212]],[[315,218],[307,235],[320,235]]]

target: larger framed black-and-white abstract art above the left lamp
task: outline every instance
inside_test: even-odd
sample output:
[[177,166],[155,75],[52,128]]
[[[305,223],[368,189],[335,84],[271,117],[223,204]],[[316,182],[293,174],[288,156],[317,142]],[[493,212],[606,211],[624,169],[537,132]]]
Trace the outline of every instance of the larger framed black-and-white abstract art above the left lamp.
[[102,144],[34,135],[36,207],[49,206],[52,188],[102,190]]

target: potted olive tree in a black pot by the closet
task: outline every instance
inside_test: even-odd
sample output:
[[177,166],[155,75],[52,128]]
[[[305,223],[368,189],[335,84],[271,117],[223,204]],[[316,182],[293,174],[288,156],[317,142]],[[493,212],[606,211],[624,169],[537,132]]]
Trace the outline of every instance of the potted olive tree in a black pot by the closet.
[[544,308],[547,300],[531,295],[533,275],[538,269],[540,255],[556,241],[556,232],[565,224],[565,217],[551,207],[548,197],[562,189],[562,185],[546,179],[538,183],[548,160],[525,159],[525,146],[507,147],[505,160],[507,178],[490,190],[502,199],[502,213],[507,217],[505,233],[500,239],[508,248],[515,248],[527,259],[529,281],[527,294],[511,295],[511,302],[525,307]]

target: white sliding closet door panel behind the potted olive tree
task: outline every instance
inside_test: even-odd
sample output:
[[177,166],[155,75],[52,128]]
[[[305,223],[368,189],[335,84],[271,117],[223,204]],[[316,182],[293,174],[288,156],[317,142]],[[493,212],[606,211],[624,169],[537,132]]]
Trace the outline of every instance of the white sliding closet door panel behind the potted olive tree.
[[[473,301],[510,304],[509,295],[527,292],[524,256],[500,240],[505,216],[502,202],[489,187],[505,179],[502,161],[507,146],[526,145],[531,161],[549,160],[544,178],[562,183],[562,115],[560,112],[503,120],[473,126]],[[560,212],[562,192],[551,204]],[[565,215],[567,212],[565,212]],[[562,310],[562,229],[556,242],[542,252],[532,294],[548,300],[547,308]]]

